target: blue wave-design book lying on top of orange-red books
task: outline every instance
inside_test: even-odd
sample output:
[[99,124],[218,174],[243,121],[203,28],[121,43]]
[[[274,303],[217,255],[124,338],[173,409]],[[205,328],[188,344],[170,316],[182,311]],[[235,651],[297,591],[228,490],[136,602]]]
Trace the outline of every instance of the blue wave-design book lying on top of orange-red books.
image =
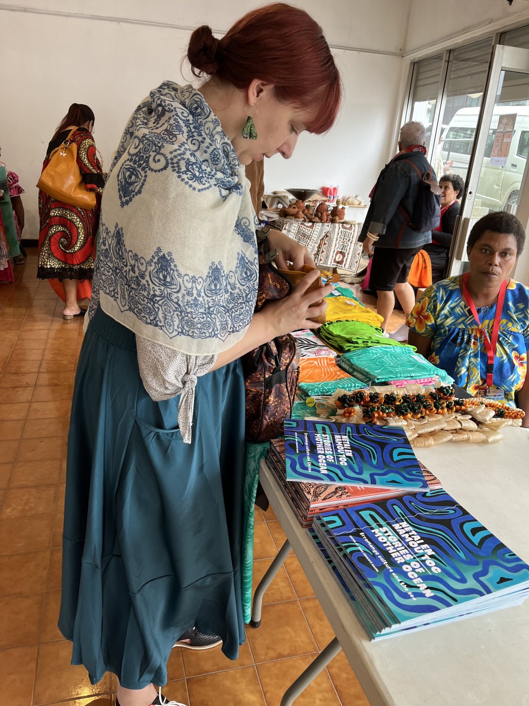
[[399,426],[285,419],[284,429],[287,481],[428,488]]

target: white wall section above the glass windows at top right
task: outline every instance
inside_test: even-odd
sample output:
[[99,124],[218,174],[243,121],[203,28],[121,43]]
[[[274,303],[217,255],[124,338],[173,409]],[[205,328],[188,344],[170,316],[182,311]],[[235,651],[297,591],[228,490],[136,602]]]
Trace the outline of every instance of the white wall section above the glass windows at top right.
[[[500,20],[523,24],[529,21],[526,0],[411,0],[405,53],[431,47],[435,42],[450,43],[458,35],[487,28]],[[491,29],[491,35],[494,30]]]

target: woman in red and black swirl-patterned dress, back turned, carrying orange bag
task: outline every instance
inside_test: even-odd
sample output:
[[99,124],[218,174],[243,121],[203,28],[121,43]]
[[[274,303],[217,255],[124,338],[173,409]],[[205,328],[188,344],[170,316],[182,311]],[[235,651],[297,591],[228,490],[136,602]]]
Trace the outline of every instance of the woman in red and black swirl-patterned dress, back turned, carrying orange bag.
[[49,155],[59,147],[73,129],[70,140],[77,145],[77,164],[88,191],[95,191],[92,210],[57,201],[39,190],[39,261],[37,277],[49,280],[54,292],[65,302],[63,318],[83,316],[78,300],[90,297],[90,281],[94,274],[95,234],[99,223],[99,206],[104,187],[103,170],[97,158],[94,138],[94,113],[87,105],[72,103],[63,117],[46,152],[42,170]]

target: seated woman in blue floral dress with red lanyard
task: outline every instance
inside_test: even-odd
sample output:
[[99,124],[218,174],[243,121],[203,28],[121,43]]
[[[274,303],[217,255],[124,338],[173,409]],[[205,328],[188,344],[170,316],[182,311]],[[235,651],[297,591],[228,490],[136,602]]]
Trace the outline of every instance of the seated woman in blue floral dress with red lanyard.
[[529,287],[509,277],[524,244],[516,216],[481,218],[468,237],[470,271],[428,287],[406,324],[418,353],[471,395],[503,390],[529,426]]

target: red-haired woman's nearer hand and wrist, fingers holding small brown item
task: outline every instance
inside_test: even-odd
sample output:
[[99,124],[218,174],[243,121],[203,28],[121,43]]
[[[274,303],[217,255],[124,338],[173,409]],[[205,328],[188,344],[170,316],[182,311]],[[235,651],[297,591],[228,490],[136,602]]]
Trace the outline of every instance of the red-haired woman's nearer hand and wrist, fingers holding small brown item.
[[[307,292],[312,282],[315,282],[320,277],[319,270],[313,270],[303,277],[303,280],[297,287],[294,287],[292,294],[284,299],[269,301],[268,304],[260,311],[260,314],[266,318],[271,330],[275,336],[281,336],[285,333],[291,333],[299,328],[318,328],[319,323],[310,321],[310,318],[320,316],[327,309],[327,301],[324,297],[331,294],[335,285],[325,285],[315,292]],[[320,301],[322,300],[323,301]],[[319,302],[317,304],[317,302]]]

